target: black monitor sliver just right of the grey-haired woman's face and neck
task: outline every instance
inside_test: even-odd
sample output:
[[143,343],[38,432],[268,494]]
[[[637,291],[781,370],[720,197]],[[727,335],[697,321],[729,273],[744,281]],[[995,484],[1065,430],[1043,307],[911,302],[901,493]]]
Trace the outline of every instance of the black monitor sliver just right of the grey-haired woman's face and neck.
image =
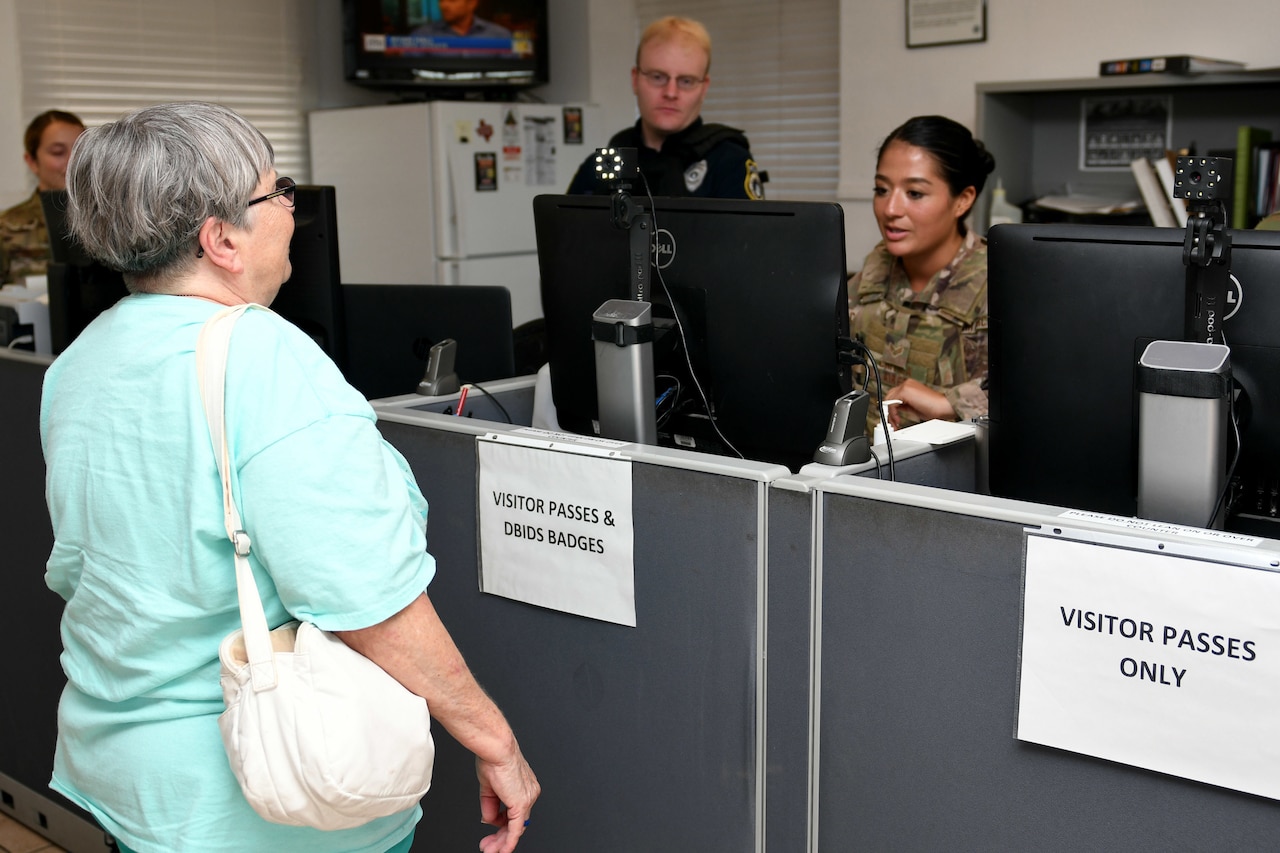
[[334,362],[347,359],[342,318],[342,266],[338,259],[338,204],[333,187],[293,191],[289,274],[271,310],[306,332]]

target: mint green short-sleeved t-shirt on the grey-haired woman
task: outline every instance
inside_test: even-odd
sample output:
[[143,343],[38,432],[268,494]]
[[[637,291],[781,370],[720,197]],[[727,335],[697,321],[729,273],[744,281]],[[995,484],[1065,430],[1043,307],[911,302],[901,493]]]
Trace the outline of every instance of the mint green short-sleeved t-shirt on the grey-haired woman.
[[[420,808],[337,833],[270,824],[223,751],[218,646],[239,611],[195,365],[219,307],[125,297],[45,377],[46,583],[67,601],[52,788],[138,853],[381,853]],[[275,314],[236,325],[227,424],[270,625],[366,628],[426,589],[426,501],[408,465],[337,366]]]

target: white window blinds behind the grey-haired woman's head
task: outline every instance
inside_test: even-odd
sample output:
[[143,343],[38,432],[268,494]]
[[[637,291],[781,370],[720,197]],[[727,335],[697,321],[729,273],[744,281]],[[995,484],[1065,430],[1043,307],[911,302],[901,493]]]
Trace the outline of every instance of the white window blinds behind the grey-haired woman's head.
[[23,114],[90,127],[164,101],[218,101],[271,141],[280,174],[310,179],[302,109],[306,0],[17,0]]

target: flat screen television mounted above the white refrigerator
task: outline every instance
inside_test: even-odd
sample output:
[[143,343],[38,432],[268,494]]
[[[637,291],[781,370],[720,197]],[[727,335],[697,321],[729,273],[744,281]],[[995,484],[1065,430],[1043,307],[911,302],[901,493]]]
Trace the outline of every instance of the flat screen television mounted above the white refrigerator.
[[424,93],[545,83],[547,5],[548,0],[343,0],[347,79]]

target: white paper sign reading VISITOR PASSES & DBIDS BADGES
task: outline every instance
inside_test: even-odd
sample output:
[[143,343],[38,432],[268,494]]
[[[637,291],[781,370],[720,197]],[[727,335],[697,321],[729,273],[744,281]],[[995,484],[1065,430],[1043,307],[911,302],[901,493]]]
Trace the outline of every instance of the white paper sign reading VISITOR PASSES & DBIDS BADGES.
[[477,442],[480,589],[635,628],[631,462],[552,444]]

